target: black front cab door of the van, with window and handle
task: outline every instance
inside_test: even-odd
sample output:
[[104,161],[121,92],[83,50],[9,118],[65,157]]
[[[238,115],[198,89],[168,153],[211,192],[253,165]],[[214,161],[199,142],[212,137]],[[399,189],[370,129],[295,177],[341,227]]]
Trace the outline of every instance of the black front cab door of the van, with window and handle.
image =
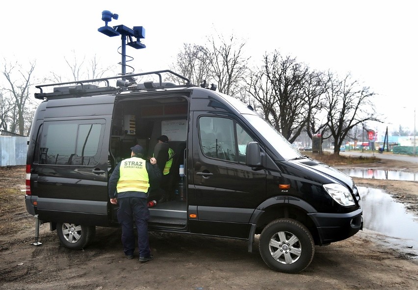
[[190,205],[197,206],[198,221],[190,222],[191,232],[248,237],[251,215],[266,197],[266,172],[245,164],[246,145],[240,145],[255,139],[230,113],[194,111],[192,123]]

